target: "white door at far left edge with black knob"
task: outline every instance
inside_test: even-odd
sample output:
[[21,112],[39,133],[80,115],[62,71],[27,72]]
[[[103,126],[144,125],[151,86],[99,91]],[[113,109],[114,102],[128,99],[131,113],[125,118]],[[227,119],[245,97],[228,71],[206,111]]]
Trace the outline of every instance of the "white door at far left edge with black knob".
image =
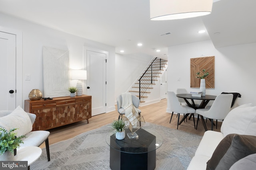
[[[0,110],[16,108],[16,35],[0,32]],[[13,90],[13,91],[12,91]]]

